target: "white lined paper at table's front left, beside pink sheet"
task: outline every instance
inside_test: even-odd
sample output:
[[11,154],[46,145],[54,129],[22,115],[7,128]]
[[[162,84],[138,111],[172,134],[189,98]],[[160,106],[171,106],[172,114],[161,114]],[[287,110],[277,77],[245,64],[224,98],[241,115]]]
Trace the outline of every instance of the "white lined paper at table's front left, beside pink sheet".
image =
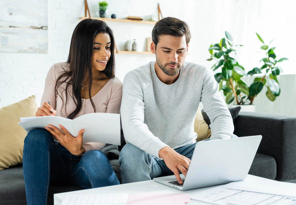
[[61,205],[125,205],[128,194],[65,195]]

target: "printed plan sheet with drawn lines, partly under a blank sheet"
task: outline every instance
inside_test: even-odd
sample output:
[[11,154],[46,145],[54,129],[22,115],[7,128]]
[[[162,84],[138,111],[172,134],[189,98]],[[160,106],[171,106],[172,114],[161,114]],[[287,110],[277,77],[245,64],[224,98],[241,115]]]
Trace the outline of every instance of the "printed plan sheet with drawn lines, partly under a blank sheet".
[[263,194],[252,191],[242,191],[215,187],[206,191],[192,193],[191,199],[204,201],[214,204],[232,204],[232,205],[273,205],[273,204],[296,204],[296,198]]

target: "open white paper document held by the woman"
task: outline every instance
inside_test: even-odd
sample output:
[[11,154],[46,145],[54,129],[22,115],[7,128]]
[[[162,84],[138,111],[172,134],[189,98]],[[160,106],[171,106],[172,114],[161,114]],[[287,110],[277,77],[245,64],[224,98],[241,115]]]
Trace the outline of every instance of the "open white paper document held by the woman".
[[102,142],[120,145],[120,114],[89,113],[74,120],[57,116],[21,117],[20,120],[19,125],[27,132],[44,128],[47,124],[60,129],[58,126],[60,124],[74,137],[78,136],[80,130],[85,129],[83,143]]

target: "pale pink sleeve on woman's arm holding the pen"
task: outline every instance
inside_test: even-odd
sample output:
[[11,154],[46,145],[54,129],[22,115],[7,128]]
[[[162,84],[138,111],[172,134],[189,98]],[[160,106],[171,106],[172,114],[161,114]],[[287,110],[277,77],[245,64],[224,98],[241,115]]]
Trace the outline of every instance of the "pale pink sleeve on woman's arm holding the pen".
[[52,65],[45,78],[44,91],[41,98],[40,107],[44,102],[49,102],[51,107],[55,109],[55,101],[56,101],[55,82],[56,82],[55,65]]

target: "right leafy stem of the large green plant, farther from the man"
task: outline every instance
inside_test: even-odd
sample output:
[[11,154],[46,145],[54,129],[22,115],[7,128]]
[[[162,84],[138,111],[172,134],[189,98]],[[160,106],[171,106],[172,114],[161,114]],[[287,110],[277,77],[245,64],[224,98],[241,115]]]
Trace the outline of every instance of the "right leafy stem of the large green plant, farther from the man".
[[[256,33],[257,34],[257,33]],[[256,77],[254,82],[250,85],[248,100],[249,104],[253,104],[254,98],[261,92],[264,86],[267,87],[266,96],[269,100],[274,101],[281,93],[280,85],[278,83],[277,76],[283,72],[282,68],[277,65],[282,61],[289,60],[288,58],[281,58],[276,60],[276,55],[274,49],[276,47],[269,48],[269,44],[273,41],[270,41],[268,45],[265,45],[263,39],[259,34],[257,34],[258,39],[263,43],[260,47],[262,50],[265,50],[266,57],[262,58],[264,64],[260,68],[253,68],[248,72],[248,75],[253,76],[254,74],[264,73],[263,77]]]

